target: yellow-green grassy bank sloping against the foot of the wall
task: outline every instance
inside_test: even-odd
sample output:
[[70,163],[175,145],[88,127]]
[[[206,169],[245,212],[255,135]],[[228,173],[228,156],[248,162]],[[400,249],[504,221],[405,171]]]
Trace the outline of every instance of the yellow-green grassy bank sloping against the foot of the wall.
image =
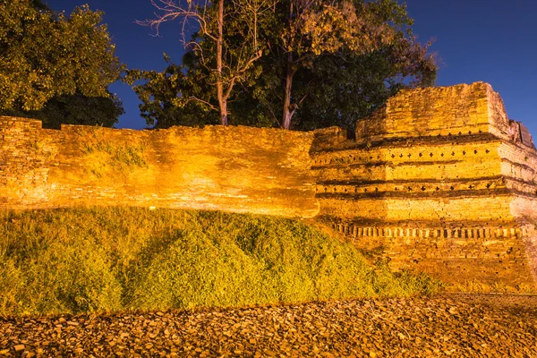
[[430,294],[301,221],[136,208],[0,211],[0,316]]

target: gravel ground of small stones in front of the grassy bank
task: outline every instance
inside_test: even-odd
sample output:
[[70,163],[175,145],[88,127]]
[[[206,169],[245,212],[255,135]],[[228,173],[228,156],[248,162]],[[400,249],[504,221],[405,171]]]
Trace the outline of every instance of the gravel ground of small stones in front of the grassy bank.
[[0,356],[537,357],[537,296],[0,319]]

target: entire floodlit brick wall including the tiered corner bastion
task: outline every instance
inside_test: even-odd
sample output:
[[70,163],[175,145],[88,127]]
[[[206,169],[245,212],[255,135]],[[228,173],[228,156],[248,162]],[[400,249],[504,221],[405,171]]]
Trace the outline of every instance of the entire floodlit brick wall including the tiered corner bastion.
[[161,131],[0,117],[0,209],[134,205],[328,221],[394,268],[535,288],[537,151],[482,82],[404,90],[356,140],[209,126]]

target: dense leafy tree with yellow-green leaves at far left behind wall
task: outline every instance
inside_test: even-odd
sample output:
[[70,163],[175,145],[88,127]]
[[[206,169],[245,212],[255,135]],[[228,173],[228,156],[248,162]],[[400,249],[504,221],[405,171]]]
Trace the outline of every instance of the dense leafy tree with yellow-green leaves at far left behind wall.
[[123,107],[107,87],[124,66],[101,19],[87,5],[67,18],[39,0],[1,2],[1,113],[35,116],[49,127],[114,124]]

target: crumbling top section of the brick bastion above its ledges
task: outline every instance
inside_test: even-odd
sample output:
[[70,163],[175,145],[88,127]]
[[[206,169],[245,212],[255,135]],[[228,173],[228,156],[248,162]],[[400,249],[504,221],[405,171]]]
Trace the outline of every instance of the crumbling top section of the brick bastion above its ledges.
[[491,133],[508,139],[502,99],[488,83],[402,90],[386,106],[359,120],[356,140]]

